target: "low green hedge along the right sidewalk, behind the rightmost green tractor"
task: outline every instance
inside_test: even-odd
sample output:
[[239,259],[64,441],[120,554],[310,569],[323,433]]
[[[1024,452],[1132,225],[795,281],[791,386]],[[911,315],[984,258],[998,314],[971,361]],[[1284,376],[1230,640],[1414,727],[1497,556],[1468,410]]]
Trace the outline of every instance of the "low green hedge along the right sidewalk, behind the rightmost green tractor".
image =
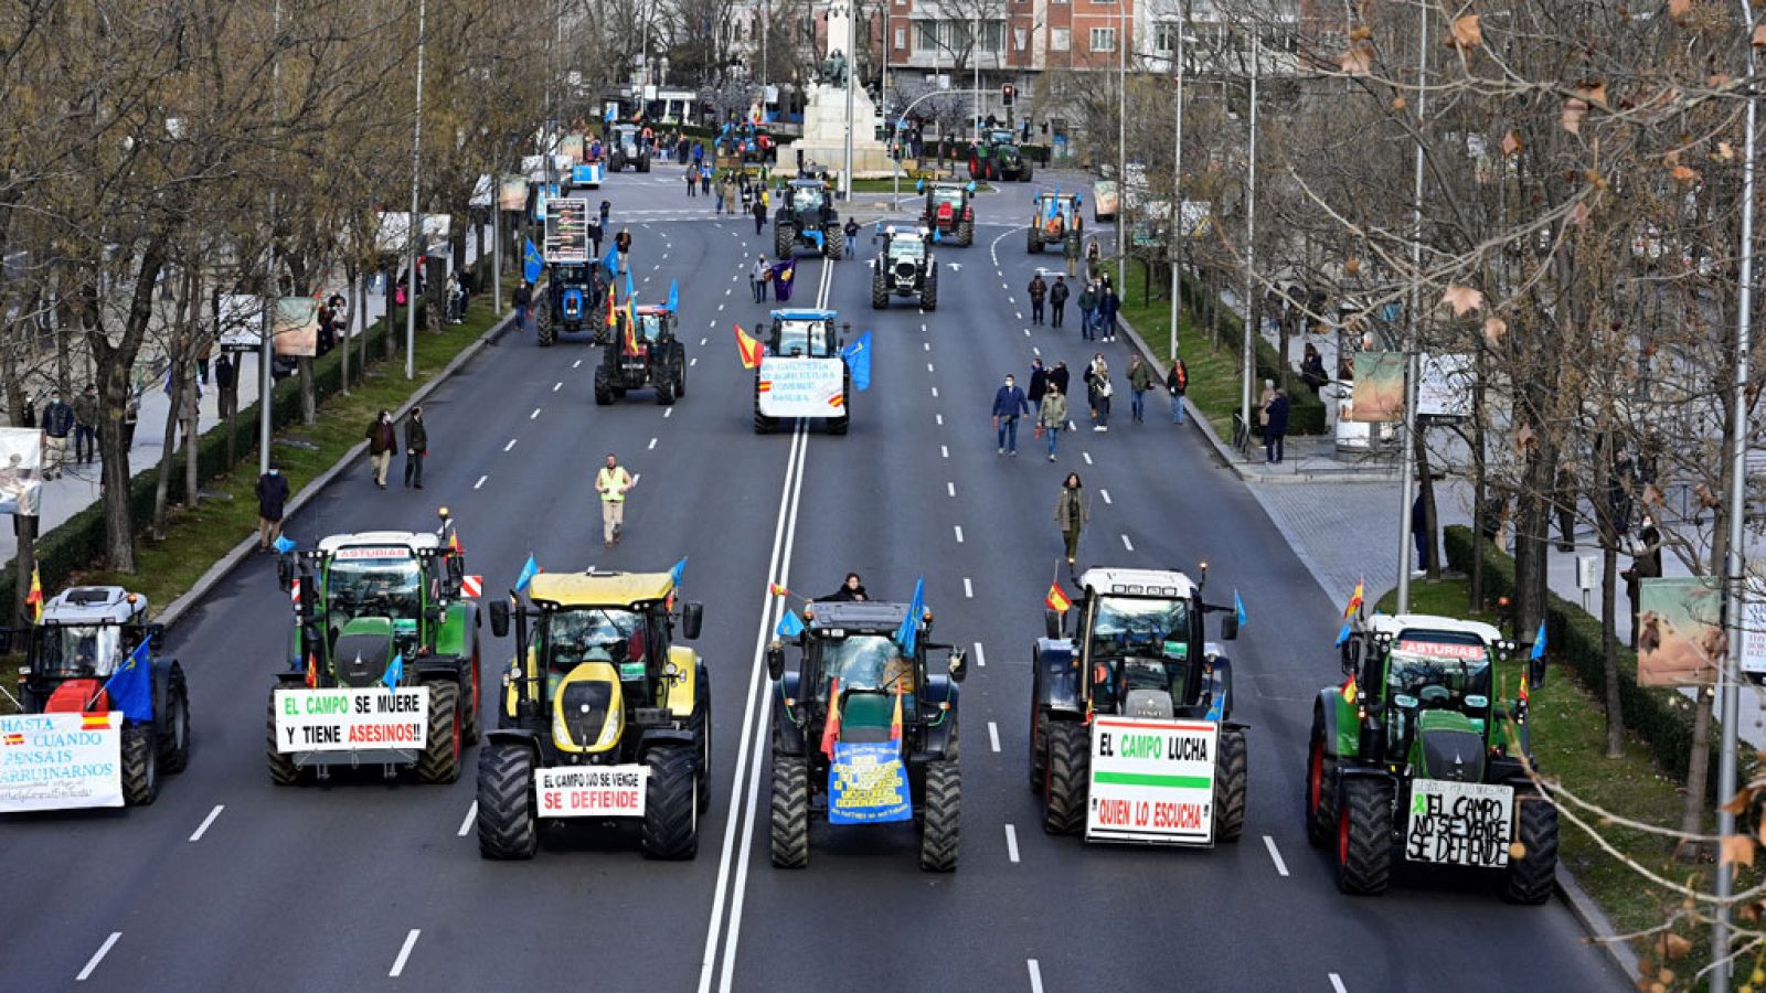
[[[1473,539],[1471,528],[1453,525],[1443,535],[1448,565],[1457,572],[1471,572]],[[1483,590],[1485,595],[1515,595],[1515,560],[1498,550],[1491,541],[1480,541],[1483,553]],[[1559,597],[1545,594],[1545,643],[1551,656],[1563,659],[1575,671],[1577,680],[1605,705],[1607,670],[1602,652],[1600,618]],[[1674,689],[1637,686],[1637,652],[1619,643],[1618,648],[1619,707],[1625,714],[1625,730],[1642,739],[1655,754],[1662,772],[1676,783],[1687,781],[1687,767],[1692,760],[1692,717],[1694,701]],[[1713,739],[1715,724],[1713,724]],[[1711,795],[1717,793],[1717,747],[1711,747],[1711,776],[1708,779]]]

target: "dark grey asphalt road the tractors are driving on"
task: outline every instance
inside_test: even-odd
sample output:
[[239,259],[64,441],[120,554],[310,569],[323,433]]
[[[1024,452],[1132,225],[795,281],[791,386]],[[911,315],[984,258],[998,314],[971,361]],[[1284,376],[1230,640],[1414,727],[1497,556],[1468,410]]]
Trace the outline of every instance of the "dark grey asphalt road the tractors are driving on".
[[[1256,500],[1150,398],[1128,424],[1121,345],[1102,346],[1120,398],[1109,433],[1061,438],[1049,465],[1026,429],[994,454],[998,380],[1033,352],[1090,355],[1077,330],[1031,329],[1023,284],[1028,193],[978,201],[968,249],[940,247],[941,300],[869,309],[871,247],[834,263],[826,304],[874,329],[874,376],[849,436],[756,436],[752,375],[731,320],[758,323],[745,265],[770,244],[713,221],[673,170],[615,177],[632,217],[639,297],[680,281],[687,396],[593,406],[597,353],[505,337],[426,405],[427,489],[374,489],[357,466],[290,523],[325,534],[459,521],[468,571],[507,588],[532,551],[547,569],[666,569],[706,604],[698,648],[713,682],[712,807],[692,862],[646,862],[630,839],[549,830],[532,862],[479,859],[477,754],[452,786],[339,776],[274,788],[263,714],[288,601],[274,565],[233,572],[171,634],[189,673],[194,754],[152,807],[9,816],[0,986],[9,989],[1612,989],[1623,979],[1558,906],[1508,906],[1466,880],[1337,894],[1307,848],[1300,776],[1310,700],[1337,677],[1339,606]],[[669,212],[696,208],[692,219]],[[639,214],[643,210],[643,214]],[[630,212],[630,214],[627,214]],[[860,208],[862,217],[871,214]],[[639,221],[643,219],[643,221]],[[1058,265],[1056,256],[1044,256]],[[961,267],[961,269],[957,269]],[[793,304],[818,302],[805,260]],[[1015,315],[1023,313],[1023,318]],[[1074,316],[1072,313],[1068,315]],[[1070,320],[1070,323],[1074,323]],[[1028,334],[1026,334],[1028,332]],[[705,343],[701,345],[701,337]],[[1081,405],[1083,406],[1083,405]],[[1083,424],[1083,410],[1081,424]],[[629,539],[599,544],[592,474],[606,452],[639,474]],[[1250,723],[1245,838],[1213,850],[1084,846],[1040,830],[1024,788],[1028,650],[1060,558],[1053,507],[1075,470],[1091,495],[1084,564],[1211,564],[1210,599],[1243,595],[1231,645]],[[936,638],[971,648],[962,687],[962,860],[920,873],[908,827],[812,829],[805,871],[766,855],[768,581],[825,594],[864,574],[906,599],[925,576]],[[1211,625],[1213,622],[1210,622]],[[482,631],[491,684],[509,640]],[[756,806],[756,788],[759,804]]]

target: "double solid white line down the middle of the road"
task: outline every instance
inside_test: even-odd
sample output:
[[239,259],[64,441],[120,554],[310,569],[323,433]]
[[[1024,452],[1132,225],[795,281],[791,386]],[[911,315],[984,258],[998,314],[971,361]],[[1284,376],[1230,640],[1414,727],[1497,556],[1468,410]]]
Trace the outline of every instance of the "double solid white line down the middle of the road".
[[[834,265],[821,265],[816,284],[816,306],[828,306],[834,288]],[[796,542],[796,511],[804,493],[804,461],[809,456],[809,422],[798,421],[791,431],[791,454],[786,458],[784,489],[779,500],[779,521],[774,525],[772,558],[766,564],[766,590],[761,601],[761,625],[754,633],[754,663],[749,673],[749,701],[742,709],[742,739],[736,749],[736,772],[729,785],[729,820],[724,825],[724,850],[717,859],[717,894],[712,898],[712,922],[705,931],[705,958],[699,961],[699,993],[717,989],[728,993],[736,968],[736,942],[742,935],[742,898],[749,882],[749,860],[754,848],[754,816],[761,799],[763,749],[772,726],[772,680],[766,678],[766,643],[779,618],[784,617],[786,597],[772,595],[772,583],[791,585],[791,548]],[[745,802],[743,802],[745,788]],[[736,811],[742,811],[740,818]],[[742,830],[736,832],[740,820]],[[735,873],[731,875],[731,864]],[[728,903],[729,921],[724,921]],[[722,968],[719,968],[722,949]]]

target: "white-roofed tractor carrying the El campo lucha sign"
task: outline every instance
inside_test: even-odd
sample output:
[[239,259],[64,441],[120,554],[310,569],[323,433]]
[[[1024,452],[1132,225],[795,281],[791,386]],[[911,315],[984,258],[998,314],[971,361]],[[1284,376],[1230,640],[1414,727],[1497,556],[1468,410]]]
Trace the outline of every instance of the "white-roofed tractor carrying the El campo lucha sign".
[[1086,569],[1079,588],[1077,599],[1051,588],[1047,636],[1031,650],[1030,788],[1042,829],[1086,841],[1238,841],[1245,724],[1233,721],[1233,664],[1203,640],[1204,615],[1220,610],[1220,640],[1236,638],[1234,608],[1203,603],[1203,583],[1176,571]]

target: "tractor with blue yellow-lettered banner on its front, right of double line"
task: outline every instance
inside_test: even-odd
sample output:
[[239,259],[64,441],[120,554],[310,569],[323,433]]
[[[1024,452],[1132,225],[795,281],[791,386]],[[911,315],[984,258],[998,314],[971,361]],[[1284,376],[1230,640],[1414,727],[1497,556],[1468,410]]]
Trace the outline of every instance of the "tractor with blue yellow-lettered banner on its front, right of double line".
[[[766,648],[777,686],[772,735],[772,862],[809,864],[809,822],[911,820],[920,868],[957,868],[962,779],[957,684],[962,648],[934,645],[932,615],[913,604],[812,603],[793,638]],[[906,636],[904,636],[906,634]],[[945,656],[945,666],[927,656]]]

